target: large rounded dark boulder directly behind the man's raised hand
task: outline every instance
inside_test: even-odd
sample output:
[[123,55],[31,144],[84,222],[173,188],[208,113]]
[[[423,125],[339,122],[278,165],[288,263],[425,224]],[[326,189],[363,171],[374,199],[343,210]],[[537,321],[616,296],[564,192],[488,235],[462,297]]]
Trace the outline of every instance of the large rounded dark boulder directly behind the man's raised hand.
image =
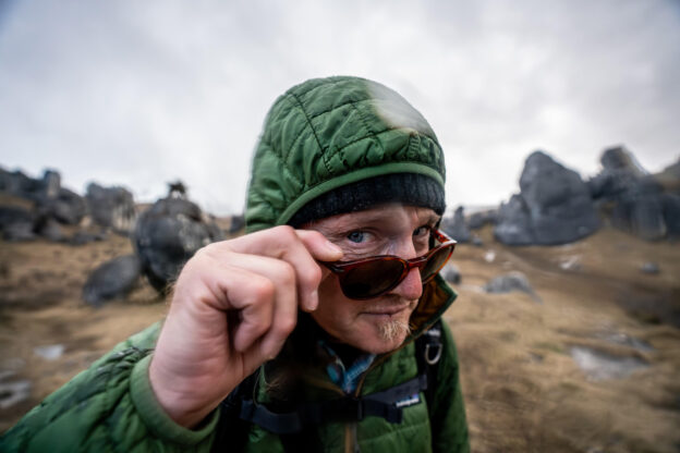
[[160,293],[196,250],[221,238],[201,208],[181,197],[156,201],[139,216],[133,234],[144,273]]

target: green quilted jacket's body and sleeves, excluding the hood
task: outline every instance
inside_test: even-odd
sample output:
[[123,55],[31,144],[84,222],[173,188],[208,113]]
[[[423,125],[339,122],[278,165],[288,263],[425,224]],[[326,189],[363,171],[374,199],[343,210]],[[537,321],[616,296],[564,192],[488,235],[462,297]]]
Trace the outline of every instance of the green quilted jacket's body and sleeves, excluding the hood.
[[[437,319],[454,293],[440,279],[430,282],[424,299],[433,305],[414,313],[421,325],[404,345],[376,358],[359,395],[384,391],[418,374],[413,339]],[[423,302],[422,301],[422,302]],[[418,308],[421,306],[418,305]],[[429,313],[430,310],[434,313]],[[427,311],[427,313],[426,313]],[[451,332],[444,329],[444,354],[437,366],[433,407],[425,396],[403,409],[403,420],[390,424],[367,416],[360,423],[319,426],[317,437],[327,452],[467,452],[467,427]],[[64,387],[34,407],[0,440],[2,452],[209,452],[216,439],[220,408],[199,429],[177,425],[154,397],[148,365],[160,330],[156,323],[117,345]],[[309,370],[309,393],[320,401],[342,391],[321,368]],[[260,402],[266,392],[258,388]],[[227,440],[229,445],[229,440]],[[278,436],[251,426],[243,446],[246,452],[283,452]],[[230,451],[224,449],[223,451]]]

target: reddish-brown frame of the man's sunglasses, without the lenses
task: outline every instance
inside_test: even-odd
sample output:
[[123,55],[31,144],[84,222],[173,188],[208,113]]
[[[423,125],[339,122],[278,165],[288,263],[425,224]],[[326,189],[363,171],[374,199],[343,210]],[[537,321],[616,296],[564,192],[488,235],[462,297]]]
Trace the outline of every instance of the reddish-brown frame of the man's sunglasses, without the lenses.
[[[342,292],[344,293],[347,297],[353,298],[356,301],[365,301],[365,299],[369,299],[374,297],[379,297],[382,294],[393,290],[394,287],[399,285],[399,283],[401,283],[406,278],[409,272],[411,272],[411,269],[417,268],[418,270],[422,270],[423,267],[428,262],[429,258],[433,255],[435,255],[442,248],[450,247],[449,255],[441,262],[441,266],[439,266],[439,268],[436,271],[434,271],[430,276],[426,277],[423,280],[423,284],[426,284],[427,282],[429,282],[441,270],[441,268],[446,266],[447,261],[451,258],[451,255],[453,254],[453,250],[456,249],[456,244],[457,244],[456,240],[453,240],[448,234],[439,230],[433,230],[433,236],[440,244],[434,248],[430,248],[425,255],[411,258],[411,259],[403,259],[394,255],[376,255],[376,256],[371,256],[367,258],[353,259],[351,261],[340,261],[340,262],[319,261],[319,262],[324,265],[325,267],[327,267],[331,272],[340,276],[340,287],[342,289]],[[400,261],[403,267],[401,276],[398,279],[396,279],[393,283],[390,283],[390,285],[387,289],[382,290],[381,292],[375,295],[371,295],[367,297],[356,297],[356,296],[348,295],[342,284],[342,274],[350,270],[356,269],[360,266],[363,266],[368,262],[372,264],[375,261]]]

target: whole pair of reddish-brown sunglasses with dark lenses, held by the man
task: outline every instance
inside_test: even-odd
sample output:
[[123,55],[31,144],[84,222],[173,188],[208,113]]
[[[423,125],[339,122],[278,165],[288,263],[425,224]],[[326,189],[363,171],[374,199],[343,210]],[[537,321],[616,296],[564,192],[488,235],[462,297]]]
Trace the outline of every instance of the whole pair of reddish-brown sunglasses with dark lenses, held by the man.
[[378,297],[397,287],[413,268],[421,271],[423,284],[439,272],[451,257],[456,241],[439,230],[434,230],[433,236],[439,245],[413,259],[377,255],[344,262],[321,261],[321,265],[338,276],[340,287],[347,297],[359,301]]

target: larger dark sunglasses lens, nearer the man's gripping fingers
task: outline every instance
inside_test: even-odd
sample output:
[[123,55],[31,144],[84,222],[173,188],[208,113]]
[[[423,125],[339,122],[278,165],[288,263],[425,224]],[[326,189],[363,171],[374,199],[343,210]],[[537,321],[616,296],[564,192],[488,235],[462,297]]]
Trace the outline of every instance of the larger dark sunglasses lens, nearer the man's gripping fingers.
[[343,273],[340,285],[350,298],[375,297],[389,290],[403,269],[403,264],[397,259],[368,261]]

